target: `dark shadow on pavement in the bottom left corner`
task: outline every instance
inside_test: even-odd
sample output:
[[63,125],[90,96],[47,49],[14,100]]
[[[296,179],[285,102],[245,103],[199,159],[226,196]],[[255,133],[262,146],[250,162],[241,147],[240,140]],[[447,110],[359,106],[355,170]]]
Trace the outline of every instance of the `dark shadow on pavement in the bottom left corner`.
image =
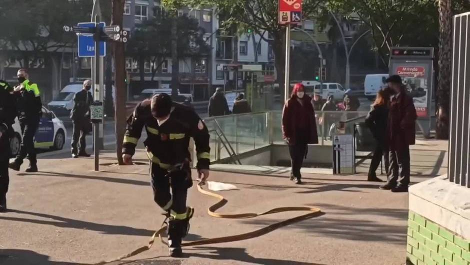
[[0,249],[0,264],[2,265],[78,265],[79,263],[51,261],[49,256],[25,249]]

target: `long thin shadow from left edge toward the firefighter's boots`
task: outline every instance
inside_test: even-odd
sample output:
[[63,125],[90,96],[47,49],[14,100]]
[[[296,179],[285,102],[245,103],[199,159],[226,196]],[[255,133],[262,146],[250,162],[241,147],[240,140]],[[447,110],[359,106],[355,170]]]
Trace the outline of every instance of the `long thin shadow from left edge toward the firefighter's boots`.
[[93,223],[93,222],[69,219],[69,218],[60,217],[56,215],[22,211],[22,210],[9,209],[8,213],[27,214],[27,215],[32,215],[35,217],[41,217],[41,218],[47,218],[47,219],[53,219],[53,220],[38,220],[38,219],[30,219],[30,218],[9,217],[5,215],[1,215],[0,220],[10,220],[10,221],[18,221],[18,222],[29,222],[29,223],[36,223],[36,224],[53,225],[55,227],[62,227],[62,228],[85,229],[85,230],[96,231],[96,232],[103,233],[103,234],[139,235],[139,236],[150,237],[154,232],[153,230],[134,228],[134,227],[123,226],[123,225]]

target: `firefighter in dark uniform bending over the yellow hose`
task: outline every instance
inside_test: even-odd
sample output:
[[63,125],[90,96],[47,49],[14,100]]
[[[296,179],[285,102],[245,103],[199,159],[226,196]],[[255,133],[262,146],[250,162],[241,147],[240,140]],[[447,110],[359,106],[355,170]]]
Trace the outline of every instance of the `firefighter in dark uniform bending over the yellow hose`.
[[197,172],[202,184],[209,176],[209,133],[192,109],[172,102],[167,94],[155,95],[139,103],[127,120],[122,148],[125,164],[132,164],[144,126],[154,200],[167,213],[169,254],[179,257],[181,238],[186,236],[194,212],[186,206],[187,189],[192,186],[189,138],[196,145]]

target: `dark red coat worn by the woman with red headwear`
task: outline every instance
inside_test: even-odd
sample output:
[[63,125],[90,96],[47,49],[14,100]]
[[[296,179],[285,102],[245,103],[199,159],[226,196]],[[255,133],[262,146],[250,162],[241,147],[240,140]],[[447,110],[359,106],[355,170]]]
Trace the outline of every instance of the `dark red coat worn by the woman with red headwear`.
[[284,109],[282,110],[282,136],[285,140],[289,139],[289,144],[295,143],[295,128],[299,127],[298,123],[301,121],[299,117],[305,111],[308,117],[307,128],[310,132],[308,143],[317,144],[318,135],[316,133],[315,111],[310,102],[310,97],[304,96],[302,101],[303,106],[297,102],[297,97],[293,96],[284,104]]

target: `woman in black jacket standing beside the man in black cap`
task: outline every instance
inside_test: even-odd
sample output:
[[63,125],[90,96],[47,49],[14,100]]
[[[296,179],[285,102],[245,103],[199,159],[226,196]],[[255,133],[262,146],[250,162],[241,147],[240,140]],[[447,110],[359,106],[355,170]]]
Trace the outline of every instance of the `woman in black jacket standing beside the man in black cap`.
[[375,171],[377,170],[377,167],[382,160],[382,156],[385,164],[385,171],[388,172],[388,144],[385,138],[389,101],[390,95],[384,90],[379,90],[377,92],[375,102],[372,105],[372,109],[365,118],[365,124],[370,129],[370,132],[375,139],[375,150],[373,152],[372,160],[370,161],[367,181],[382,181],[381,179],[377,178],[377,175],[375,174]]

